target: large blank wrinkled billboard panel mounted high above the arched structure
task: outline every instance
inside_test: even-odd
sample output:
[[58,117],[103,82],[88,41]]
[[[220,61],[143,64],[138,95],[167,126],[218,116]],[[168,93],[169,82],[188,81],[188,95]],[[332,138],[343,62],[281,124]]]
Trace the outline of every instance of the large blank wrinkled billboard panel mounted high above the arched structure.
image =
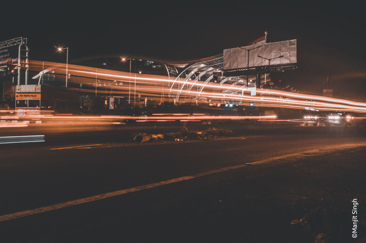
[[296,62],[296,39],[224,50],[224,70]]

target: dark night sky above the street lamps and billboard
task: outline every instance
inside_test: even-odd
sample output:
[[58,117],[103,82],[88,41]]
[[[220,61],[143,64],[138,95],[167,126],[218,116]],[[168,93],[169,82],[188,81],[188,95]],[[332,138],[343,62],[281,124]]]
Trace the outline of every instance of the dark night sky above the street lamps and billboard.
[[267,31],[268,42],[297,39],[298,71],[275,79],[321,94],[329,72],[335,96],[366,100],[363,8],[319,2],[28,3],[19,15],[13,4],[11,11],[2,11],[9,27],[0,41],[27,37],[30,58],[42,61],[64,62],[53,45],[68,46],[69,60],[107,53],[179,60],[213,56]]

